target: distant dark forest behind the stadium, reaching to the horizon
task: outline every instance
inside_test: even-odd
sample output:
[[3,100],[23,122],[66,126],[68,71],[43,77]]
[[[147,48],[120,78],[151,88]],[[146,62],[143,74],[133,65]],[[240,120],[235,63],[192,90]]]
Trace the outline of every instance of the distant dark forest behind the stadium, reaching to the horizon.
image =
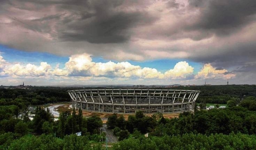
[[[0,88],[0,105],[17,105],[22,107],[22,105],[28,106],[66,102],[70,101],[67,90],[80,88],[81,87],[33,86],[30,86],[29,89]],[[103,87],[96,88],[103,89]],[[85,89],[90,89],[90,87]],[[197,103],[227,104],[228,100],[233,100],[238,104],[244,97],[256,97],[256,85],[179,86],[168,89],[200,90],[201,93],[197,98]]]

